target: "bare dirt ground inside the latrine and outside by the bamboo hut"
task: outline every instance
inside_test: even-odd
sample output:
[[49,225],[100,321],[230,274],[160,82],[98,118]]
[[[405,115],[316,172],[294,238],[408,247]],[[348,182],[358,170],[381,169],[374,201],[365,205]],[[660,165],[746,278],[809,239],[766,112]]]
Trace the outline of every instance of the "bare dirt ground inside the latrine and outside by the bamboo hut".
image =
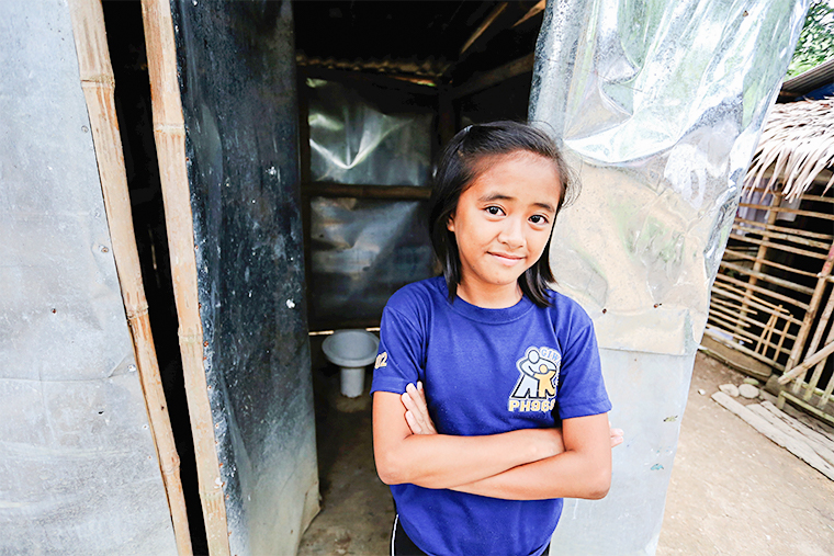
[[[298,555],[384,555],[394,506],[373,466],[370,400],[339,398],[338,372],[315,355],[317,343],[322,512]],[[710,398],[743,379],[697,355],[656,554],[834,554],[834,483]]]

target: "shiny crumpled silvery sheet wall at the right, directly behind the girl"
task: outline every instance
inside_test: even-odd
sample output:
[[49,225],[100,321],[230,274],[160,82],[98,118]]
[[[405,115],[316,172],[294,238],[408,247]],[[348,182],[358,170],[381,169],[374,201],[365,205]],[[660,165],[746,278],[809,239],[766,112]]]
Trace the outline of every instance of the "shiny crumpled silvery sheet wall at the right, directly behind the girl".
[[602,501],[567,501],[551,554],[654,554],[709,291],[807,2],[548,2],[530,118],[581,171],[560,290],[594,319],[611,421]]

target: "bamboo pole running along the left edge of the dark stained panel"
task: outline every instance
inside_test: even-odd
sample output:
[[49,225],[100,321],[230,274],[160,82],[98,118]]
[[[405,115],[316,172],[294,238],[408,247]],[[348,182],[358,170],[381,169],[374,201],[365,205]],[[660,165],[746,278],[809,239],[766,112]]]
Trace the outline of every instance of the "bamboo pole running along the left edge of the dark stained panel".
[[185,126],[177,78],[177,48],[169,0],[142,0],[142,16],[200,501],[208,553],[212,556],[228,556],[226,506],[203,370],[203,327],[198,300],[196,246],[185,168]]

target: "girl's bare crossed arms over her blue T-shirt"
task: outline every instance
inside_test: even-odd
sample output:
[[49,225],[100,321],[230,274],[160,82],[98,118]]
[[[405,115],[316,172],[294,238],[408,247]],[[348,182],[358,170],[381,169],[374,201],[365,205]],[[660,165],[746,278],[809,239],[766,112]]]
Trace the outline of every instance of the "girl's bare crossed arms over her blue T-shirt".
[[390,485],[412,483],[493,498],[602,498],[611,446],[621,431],[605,413],[565,419],[563,429],[523,429],[484,436],[437,434],[425,394],[377,392],[373,398],[376,469]]

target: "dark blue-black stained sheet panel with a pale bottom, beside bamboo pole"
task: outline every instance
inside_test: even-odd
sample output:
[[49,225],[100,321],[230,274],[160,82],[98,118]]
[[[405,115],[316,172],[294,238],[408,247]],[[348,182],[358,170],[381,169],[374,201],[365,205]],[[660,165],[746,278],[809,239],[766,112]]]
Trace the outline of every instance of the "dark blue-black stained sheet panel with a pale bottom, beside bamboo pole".
[[232,554],[318,509],[290,2],[172,4],[205,373]]

